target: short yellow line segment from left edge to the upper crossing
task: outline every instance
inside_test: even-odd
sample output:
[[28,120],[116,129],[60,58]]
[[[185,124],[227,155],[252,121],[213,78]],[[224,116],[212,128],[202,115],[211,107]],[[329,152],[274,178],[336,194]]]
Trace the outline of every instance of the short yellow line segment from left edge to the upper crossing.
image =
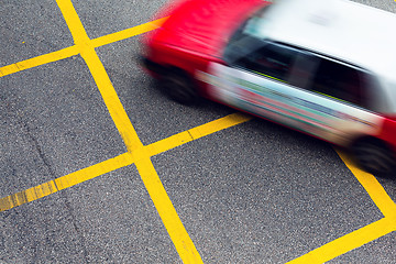
[[40,65],[53,63],[56,61],[61,61],[67,57],[72,57],[74,55],[77,55],[79,53],[78,48],[76,46],[70,46],[63,48],[57,52],[44,54],[34,58],[30,58],[26,61],[22,61],[15,64],[11,64],[8,66],[3,66],[0,68],[0,77],[3,77],[6,75],[11,75],[24,69],[37,67]]

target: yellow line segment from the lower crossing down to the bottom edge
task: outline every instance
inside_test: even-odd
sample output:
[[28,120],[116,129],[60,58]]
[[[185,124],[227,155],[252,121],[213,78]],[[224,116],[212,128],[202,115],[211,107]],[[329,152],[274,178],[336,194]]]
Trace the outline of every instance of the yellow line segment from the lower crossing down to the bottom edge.
[[183,263],[204,263],[172,205],[150,157],[136,162],[136,168]]

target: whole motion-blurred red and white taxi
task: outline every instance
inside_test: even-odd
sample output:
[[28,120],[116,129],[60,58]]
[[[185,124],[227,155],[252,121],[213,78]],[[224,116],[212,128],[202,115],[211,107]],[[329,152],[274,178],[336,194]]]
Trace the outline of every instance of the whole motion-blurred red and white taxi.
[[175,101],[233,107],[396,168],[396,15],[349,0],[182,0],[143,36]]

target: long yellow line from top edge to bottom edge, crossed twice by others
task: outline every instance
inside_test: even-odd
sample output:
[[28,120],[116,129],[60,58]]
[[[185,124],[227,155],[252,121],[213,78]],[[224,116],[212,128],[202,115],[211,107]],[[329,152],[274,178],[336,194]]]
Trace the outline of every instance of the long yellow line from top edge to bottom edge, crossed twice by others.
[[[57,0],[57,3],[66,20],[66,24],[72,32],[75,44],[79,47],[80,54],[98,86],[109,113],[127,145],[128,152],[132,153],[135,157],[139,156],[139,160],[135,161],[138,172],[142,177],[177,253],[185,263],[202,263],[202,260],[173,207],[164,186],[161,184],[150,156],[146,156],[145,152],[142,151],[143,144],[122,107],[105,66],[95,52],[95,46],[91,44],[72,1]],[[123,36],[124,34],[121,33],[121,35]],[[102,40],[106,41],[106,38]]]

